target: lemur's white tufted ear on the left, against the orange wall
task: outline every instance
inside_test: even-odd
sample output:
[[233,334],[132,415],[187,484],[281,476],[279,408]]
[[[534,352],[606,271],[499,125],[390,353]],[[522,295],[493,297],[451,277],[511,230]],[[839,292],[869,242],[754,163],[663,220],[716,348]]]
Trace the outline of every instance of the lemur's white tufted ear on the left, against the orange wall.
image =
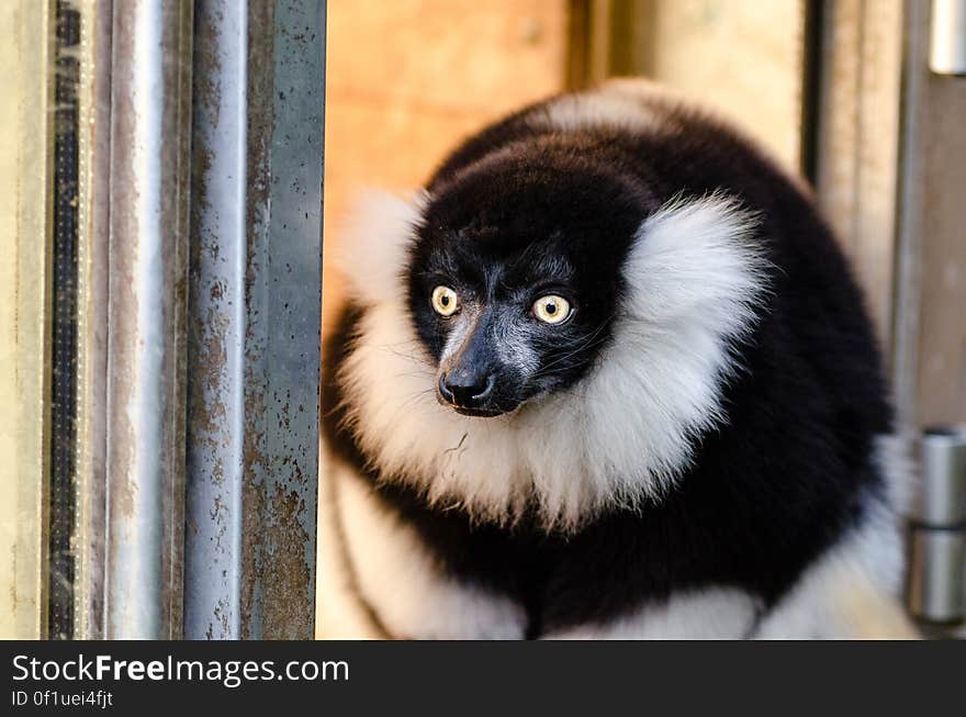
[[403,271],[426,202],[425,192],[405,199],[377,190],[356,200],[334,253],[352,299],[364,304],[404,299]]

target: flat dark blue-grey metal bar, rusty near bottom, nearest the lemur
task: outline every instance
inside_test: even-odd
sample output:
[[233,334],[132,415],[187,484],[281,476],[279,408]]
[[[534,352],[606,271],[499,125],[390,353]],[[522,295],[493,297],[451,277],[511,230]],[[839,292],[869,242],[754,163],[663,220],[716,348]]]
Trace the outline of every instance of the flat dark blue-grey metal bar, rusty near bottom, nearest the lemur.
[[[261,531],[244,535],[259,570],[248,590],[251,637],[314,637],[322,307],[322,184],[325,105],[325,2],[281,0],[274,9],[270,173],[256,173],[267,204],[249,253],[249,351],[259,359],[247,385],[261,408],[246,437],[251,491],[262,502]],[[268,98],[266,98],[268,99]],[[249,139],[249,145],[251,141]],[[258,229],[261,228],[261,233]],[[258,482],[258,473],[262,479]],[[256,619],[260,616],[260,620]]]

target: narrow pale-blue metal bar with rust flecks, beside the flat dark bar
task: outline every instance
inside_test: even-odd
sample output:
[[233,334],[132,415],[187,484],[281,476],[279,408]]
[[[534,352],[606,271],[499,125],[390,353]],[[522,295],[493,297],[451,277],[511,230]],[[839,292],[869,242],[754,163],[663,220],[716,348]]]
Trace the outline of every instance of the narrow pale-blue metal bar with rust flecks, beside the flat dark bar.
[[245,438],[248,8],[195,8],[184,635],[238,639]]

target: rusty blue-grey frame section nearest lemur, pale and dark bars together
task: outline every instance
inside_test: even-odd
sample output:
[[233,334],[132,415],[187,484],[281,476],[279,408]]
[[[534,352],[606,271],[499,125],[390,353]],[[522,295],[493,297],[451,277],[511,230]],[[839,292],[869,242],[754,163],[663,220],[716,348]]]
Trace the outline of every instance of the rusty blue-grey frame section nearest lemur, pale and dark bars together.
[[195,12],[184,637],[305,639],[325,2]]

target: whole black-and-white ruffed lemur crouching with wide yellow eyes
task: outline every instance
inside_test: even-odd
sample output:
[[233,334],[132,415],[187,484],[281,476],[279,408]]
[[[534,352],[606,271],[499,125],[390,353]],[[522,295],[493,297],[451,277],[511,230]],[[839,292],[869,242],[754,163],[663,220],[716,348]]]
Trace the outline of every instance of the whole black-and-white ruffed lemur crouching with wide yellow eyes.
[[732,130],[637,85],[555,98],[344,244],[322,580],[382,631],[835,636],[849,590],[897,589],[860,292]]

